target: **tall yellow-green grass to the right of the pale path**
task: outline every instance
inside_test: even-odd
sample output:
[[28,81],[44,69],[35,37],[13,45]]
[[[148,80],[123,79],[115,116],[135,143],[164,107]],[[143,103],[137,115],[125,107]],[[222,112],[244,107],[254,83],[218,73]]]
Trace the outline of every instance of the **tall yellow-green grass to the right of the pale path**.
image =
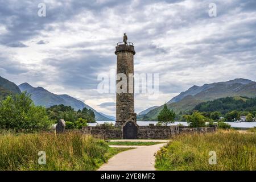
[[[215,151],[217,164],[209,164]],[[156,154],[159,170],[256,170],[256,135],[236,131],[179,135]]]

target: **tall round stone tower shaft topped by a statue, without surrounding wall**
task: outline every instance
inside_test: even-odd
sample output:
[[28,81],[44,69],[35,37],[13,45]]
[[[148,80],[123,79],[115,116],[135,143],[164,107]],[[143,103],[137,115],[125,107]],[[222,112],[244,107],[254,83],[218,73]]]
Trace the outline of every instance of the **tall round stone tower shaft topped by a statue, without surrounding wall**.
[[[125,75],[127,79],[127,92],[117,92],[116,98],[117,104],[115,125],[122,126],[127,121],[136,122],[137,120],[136,113],[134,113],[134,78],[129,78],[129,74],[134,73],[133,56],[135,55],[135,51],[133,43],[127,42],[124,38],[124,42],[118,43],[115,47],[115,55],[117,55],[117,74],[123,73],[123,75]],[[117,90],[120,90],[120,88],[118,88],[118,86],[120,86],[118,85],[118,82],[120,81],[122,81],[122,78],[118,80],[117,77]]]

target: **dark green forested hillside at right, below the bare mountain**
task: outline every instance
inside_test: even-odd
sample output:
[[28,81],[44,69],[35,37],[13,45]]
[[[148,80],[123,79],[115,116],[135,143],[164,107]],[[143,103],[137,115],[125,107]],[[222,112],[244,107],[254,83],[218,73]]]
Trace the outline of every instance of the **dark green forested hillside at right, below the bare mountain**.
[[230,111],[255,111],[256,98],[248,97],[225,97],[217,100],[202,102],[195,106],[193,110],[212,112],[219,111],[221,114],[229,113]]

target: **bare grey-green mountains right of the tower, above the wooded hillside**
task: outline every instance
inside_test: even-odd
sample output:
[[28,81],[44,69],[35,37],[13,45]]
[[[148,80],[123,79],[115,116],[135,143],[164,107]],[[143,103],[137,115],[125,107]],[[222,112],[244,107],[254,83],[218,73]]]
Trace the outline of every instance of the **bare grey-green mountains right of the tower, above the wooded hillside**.
[[[215,82],[212,84],[204,84],[203,86],[192,86],[185,92],[181,92],[178,96],[167,102],[168,108],[173,109],[175,113],[180,111],[192,110],[196,105],[205,101],[212,101],[222,97],[256,97],[256,82],[237,78],[226,82]],[[157,116],[163,106],[152,109],[145,114],[142,121],[157,120]]]

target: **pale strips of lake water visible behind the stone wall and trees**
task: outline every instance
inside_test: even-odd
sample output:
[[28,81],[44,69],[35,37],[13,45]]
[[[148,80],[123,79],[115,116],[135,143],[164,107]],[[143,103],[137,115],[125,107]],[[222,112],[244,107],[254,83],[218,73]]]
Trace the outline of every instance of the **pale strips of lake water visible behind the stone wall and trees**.
[[[97,123],[99,123],[99,124],[104,124],[105,122],[115,124],[115,121],[97,121]],[[89,126],[96,126],[97,123],[89,123]],[[149,124],[155,124],[156,125],[156,123],[158,123],[158,122],[156,122],[156,121],[137,121],[137,124],[139,126],[148,126]],[[188,125],[187,122],[175,122],[171,125],[178,125],[179,123],[181,123],[184,126]],[[250,127],[256,126],[256,122],[241,122],[241,123],[226,122],[226,123],[229,123],[232,127],[250,128]]]

